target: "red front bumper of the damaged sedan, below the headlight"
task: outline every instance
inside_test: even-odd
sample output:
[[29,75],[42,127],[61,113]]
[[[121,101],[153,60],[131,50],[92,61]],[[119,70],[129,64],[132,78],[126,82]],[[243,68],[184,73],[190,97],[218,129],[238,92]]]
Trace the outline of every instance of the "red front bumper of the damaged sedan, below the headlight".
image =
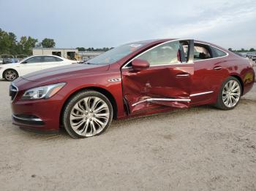
[[36,132],[59,131],[62,96],[57,94],[49,99],[33,101],[19,101],[18,97],[11,103],[14,125]]

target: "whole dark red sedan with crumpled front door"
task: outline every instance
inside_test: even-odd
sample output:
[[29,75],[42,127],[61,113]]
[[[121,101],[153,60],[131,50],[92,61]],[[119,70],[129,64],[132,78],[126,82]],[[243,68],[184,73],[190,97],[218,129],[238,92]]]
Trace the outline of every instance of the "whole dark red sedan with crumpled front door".
[[255,81],[249,61],[193,39],[116,47],[83,64],[19,77],[10,85],[12,120],[29,130],[96,136],[112,119],[213,104],[233,109]]

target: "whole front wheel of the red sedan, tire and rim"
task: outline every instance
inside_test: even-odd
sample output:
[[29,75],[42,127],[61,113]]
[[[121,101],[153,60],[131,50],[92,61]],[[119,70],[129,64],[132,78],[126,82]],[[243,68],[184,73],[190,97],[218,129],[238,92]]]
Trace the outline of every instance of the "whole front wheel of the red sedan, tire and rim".
[[108,98],[97,91],[85,90],[69,99],[64,107],[62,122],[74,139],[103,133],[113,118],[113,107]]

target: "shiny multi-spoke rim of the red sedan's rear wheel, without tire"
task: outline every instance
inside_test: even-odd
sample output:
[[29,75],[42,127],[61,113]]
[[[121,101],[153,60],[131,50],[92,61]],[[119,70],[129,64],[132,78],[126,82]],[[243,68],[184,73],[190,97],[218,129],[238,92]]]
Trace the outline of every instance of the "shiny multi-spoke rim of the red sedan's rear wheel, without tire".
[[222,90],[222,101],[225,106],[231,108],[236,106],[241,96],[241,87],[236,80],[230,80]]

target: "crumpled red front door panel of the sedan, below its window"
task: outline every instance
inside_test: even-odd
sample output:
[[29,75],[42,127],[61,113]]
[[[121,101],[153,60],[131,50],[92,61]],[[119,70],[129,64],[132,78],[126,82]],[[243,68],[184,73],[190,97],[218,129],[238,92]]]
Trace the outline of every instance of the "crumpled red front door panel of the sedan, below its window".
[[121,69],[124,101],[129,114],[162,107],[187,108],[190,102],[194,64],[174,63],[135,71]]

